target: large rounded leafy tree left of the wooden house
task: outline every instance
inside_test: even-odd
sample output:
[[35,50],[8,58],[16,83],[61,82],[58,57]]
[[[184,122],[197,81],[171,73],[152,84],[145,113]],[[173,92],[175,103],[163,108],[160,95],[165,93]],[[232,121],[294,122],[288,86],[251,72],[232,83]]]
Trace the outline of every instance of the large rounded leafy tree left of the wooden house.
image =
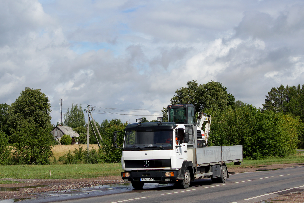
[[28,164],[47,164],[52,145],[50,102],[40,89],[26,87],[8,109],[10,142],[14,156]]

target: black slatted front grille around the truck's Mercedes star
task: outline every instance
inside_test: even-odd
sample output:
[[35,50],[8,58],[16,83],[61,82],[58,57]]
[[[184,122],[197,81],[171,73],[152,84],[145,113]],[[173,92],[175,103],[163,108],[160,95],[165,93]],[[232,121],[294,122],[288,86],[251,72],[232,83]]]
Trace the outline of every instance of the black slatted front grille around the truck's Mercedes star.
[[125,168],[171,168],[171,159],[125,160]]

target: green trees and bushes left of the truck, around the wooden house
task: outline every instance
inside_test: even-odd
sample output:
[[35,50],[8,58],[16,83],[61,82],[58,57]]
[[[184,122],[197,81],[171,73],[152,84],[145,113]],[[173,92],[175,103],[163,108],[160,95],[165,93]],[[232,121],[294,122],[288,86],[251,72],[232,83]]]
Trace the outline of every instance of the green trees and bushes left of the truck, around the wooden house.
[[[31,89],[26,87],[22,90],[19,98],[14,103],[8,105],[0,104],[0,165],[11,164],[49,164],[50,157],[54,154],[51,151],[54,145],[59,144],[54,140],[51,131],[55,125],[51,124],[50,102],[48,97],[40,92],[40,89]],[[113,132],[123,131],[128,122],[121,122],[120,119],[105,119],[102,123],[96,122],[97,128],[101,133],[102,140],[98,141],[102,148],[93,149],[88,152],[71,152],[65,154],[65,163],[67,159],[77,158],[82,160],[79,154],[82,154],[86,163],[100,162],[119,162],[121,150],[113,146]],[[80,136],[77,138],[79,143],[87,143],[87,124],[85,114],[81,104],[72,103],[71,109],[67,109],[64,114],[64,122],[57,125],[70,126]],[[93,129],[89,126],[90,144],[96,144],[97,141],[93,135]],[[68,136],[67,136],[68,137]],[[64,137],[62,144],[70,144],[71,140]],[[118,143],[123,143],[123,133],[118,133]],[[76,156],[78,155],[78,156]]]

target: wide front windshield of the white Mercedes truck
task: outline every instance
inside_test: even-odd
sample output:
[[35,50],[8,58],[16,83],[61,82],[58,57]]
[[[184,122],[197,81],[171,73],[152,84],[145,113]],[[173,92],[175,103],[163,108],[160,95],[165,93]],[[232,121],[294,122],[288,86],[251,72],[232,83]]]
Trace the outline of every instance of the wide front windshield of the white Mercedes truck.
[[123,150],[138,151],[172,149],[172,140],[173,130],[126,131]]

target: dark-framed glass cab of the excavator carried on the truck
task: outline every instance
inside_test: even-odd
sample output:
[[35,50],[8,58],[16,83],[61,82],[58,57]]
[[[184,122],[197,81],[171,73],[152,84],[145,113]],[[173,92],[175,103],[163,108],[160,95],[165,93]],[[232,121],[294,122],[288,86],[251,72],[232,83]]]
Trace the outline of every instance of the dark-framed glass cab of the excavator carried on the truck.
[[167,108],[169,122],[176,124],[196,124],[193,104],[172,104],[168,105]]

